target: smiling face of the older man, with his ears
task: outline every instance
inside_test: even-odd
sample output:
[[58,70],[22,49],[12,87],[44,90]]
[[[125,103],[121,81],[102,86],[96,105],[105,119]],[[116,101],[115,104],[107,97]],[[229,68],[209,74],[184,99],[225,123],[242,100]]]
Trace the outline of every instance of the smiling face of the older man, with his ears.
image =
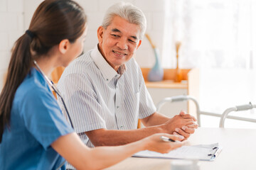
[[116,71],[120,65],[132,58],[141,44],[139,33],[139,26],[119,16],[114,16],[107,29],[102,26],[98,28],[100,52]]

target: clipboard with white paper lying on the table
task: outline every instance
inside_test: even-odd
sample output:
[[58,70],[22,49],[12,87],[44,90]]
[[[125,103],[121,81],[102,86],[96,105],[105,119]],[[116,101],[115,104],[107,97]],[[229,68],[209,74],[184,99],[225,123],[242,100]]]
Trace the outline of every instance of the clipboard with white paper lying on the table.
[[222,147],[218,143],[210,145],[183,146],[167,154],[144,150],[137,152],[132,157],[159,158],[159,159],[198,159],[200,161],[214,161],[220,154]]

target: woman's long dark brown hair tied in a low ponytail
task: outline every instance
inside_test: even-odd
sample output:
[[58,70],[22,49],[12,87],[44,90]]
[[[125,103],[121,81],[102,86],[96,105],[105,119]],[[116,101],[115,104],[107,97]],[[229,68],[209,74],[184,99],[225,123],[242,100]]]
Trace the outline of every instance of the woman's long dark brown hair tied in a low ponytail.
[[47,56],[61,40],[75,42],[84,32],[86,21],[82,7],[72,0],[46,0],[38,6],[28,30],[12,48],[6,83],[0,94],[0,142],[4,128],[10,127],[16,90],[33,67],[33,60]]

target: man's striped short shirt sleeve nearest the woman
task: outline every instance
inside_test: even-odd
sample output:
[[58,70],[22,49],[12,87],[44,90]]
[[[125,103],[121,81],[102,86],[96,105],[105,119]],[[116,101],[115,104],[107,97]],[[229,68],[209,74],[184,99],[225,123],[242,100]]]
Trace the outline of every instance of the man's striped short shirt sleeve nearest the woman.
[[[90,79],[84,74],[68,74],[63,77],[62,81],[59,81],[58,87],[64,94],[75,132],[107,128],[105,120],[101,116],[104,115],[103,108],[97,101],[97,95]],[[58,102],[63,108],[59,99]],[[62,110],[65,112],[64,109]]]

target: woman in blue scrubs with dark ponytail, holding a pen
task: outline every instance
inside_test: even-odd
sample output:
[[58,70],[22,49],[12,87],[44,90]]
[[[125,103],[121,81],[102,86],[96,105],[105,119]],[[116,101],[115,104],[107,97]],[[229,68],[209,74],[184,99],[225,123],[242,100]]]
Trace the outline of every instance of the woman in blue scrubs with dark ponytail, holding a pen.
[[169,152],[181,143],[156,134],[118,147],[85,146],[60,111],[48,86],[55,67],[66,67],[82,52],[86,16],[72,0],[43,1],[16,41],[0,95],[0,169],[103,169],[149,149]]

